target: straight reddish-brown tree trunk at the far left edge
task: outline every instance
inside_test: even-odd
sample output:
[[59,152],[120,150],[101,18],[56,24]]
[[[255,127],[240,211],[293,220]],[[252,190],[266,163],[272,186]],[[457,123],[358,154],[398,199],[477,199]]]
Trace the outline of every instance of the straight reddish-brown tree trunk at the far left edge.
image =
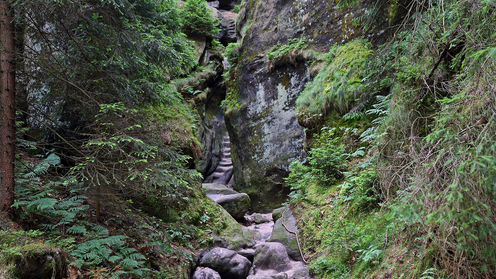
[[0,6],[0,214],[12,218],[15,160],[15,29],[10,1]]

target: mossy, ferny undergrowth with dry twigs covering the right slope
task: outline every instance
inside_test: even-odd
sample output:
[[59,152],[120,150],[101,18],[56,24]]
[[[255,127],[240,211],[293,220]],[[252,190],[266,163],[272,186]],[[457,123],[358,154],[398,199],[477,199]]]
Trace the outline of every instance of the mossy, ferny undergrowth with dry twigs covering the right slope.
[[289,205],[319,278],[496,276],[496,5],[407,6],[384,45],[331,47],[297,101],[315,134]]

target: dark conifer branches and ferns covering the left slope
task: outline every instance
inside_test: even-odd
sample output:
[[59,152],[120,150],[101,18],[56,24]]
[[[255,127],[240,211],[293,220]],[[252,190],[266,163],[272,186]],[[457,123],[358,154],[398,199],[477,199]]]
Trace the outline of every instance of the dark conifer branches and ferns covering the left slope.
[[[18,85],[0,278],[187,279],[192,252],[226,226],[190,167],[195,100],[218,70],[199,66],[183,31],[218,33],[206,1],[14,6],[16,73],[29,86]],[[219,45],[209,40],[214,58]]]

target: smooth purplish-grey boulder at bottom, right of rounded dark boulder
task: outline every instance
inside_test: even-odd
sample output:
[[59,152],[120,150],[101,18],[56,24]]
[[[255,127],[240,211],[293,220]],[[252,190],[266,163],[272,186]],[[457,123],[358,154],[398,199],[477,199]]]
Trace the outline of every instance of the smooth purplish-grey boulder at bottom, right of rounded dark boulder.
[[255,275],[271,276],[290,268],[286,247],[278,242],[264,242],[256,246],[253,259]]

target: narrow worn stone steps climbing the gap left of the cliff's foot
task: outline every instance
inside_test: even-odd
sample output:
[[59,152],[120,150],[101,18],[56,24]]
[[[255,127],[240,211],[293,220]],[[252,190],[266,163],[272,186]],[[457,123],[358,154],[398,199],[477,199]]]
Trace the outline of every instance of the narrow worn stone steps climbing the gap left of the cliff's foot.
[[215,171],[209,176],[205,177],[204,183],[215,183],[226,185],[228,188],[233,188],[233,162],[231,160],[231,141],[229,140],[229,135],[227,132],[222,137],[222,143],[224,145],[222,150],[222,160],[215,169]]

